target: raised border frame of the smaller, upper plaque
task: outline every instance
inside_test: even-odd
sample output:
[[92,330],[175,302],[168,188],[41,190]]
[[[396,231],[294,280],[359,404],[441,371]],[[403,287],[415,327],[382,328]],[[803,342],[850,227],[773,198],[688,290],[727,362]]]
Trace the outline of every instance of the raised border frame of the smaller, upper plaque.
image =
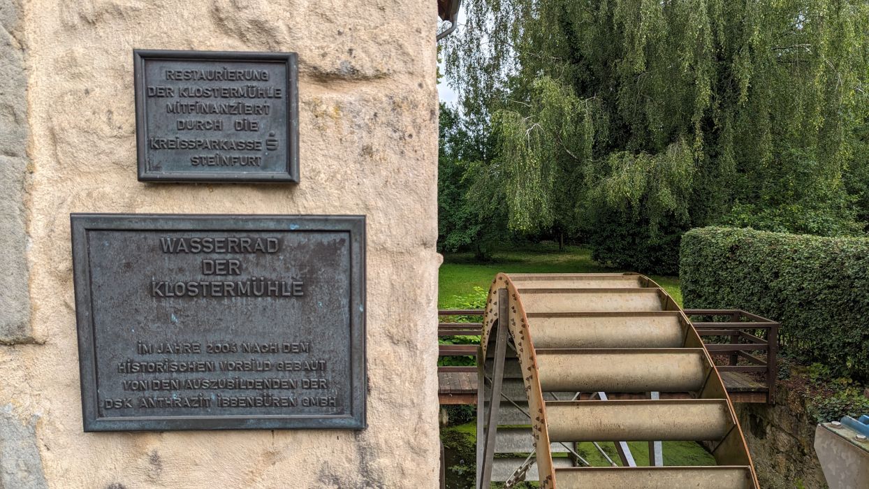
[[[277,172],[196,172],[148,169],[146,142],[148,121],[145,104],[145,61],[250,61],[287,64],[287,162]],[[297,53],[258,51],[133,50],[133,84],[136,96],[136,166],[139,182],[298,183],[299,182],[299,57]]]

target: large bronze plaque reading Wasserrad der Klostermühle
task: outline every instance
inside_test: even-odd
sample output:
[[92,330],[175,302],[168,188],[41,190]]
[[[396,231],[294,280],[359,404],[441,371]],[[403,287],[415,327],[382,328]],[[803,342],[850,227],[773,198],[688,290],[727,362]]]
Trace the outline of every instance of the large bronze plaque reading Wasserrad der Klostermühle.
[[71,221],[84,431],[365,427],[364,217]]

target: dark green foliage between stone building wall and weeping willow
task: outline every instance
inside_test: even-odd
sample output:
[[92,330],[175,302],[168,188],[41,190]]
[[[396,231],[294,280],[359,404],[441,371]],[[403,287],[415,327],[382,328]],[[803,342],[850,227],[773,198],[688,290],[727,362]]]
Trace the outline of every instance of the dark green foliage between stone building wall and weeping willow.
[[[438,244],[443,251],[470,248],[479,258],[506,233],[499,188],[476,186],[482,180],[490,143],[485,124],[474,125],[441,104],[438,153]],[[470,177],[468,175],[471,175]]]

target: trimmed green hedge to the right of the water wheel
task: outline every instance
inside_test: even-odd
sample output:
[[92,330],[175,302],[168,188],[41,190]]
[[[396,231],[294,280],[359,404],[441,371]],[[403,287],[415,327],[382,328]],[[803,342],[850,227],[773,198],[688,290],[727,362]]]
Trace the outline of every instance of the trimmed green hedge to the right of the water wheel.
[[685,307],[778,320],[798,360],[869,380],[869,239],[692,229],[682,236],[680,279]]

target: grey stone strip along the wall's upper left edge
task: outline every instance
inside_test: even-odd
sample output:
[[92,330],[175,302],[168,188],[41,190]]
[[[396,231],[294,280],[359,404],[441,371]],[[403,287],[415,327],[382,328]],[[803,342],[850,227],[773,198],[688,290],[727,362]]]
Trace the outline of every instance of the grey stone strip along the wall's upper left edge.
[[27,77],[16,0],[0,0],[0,343],[30,337],[25,248],[24,180],[27,175]]

